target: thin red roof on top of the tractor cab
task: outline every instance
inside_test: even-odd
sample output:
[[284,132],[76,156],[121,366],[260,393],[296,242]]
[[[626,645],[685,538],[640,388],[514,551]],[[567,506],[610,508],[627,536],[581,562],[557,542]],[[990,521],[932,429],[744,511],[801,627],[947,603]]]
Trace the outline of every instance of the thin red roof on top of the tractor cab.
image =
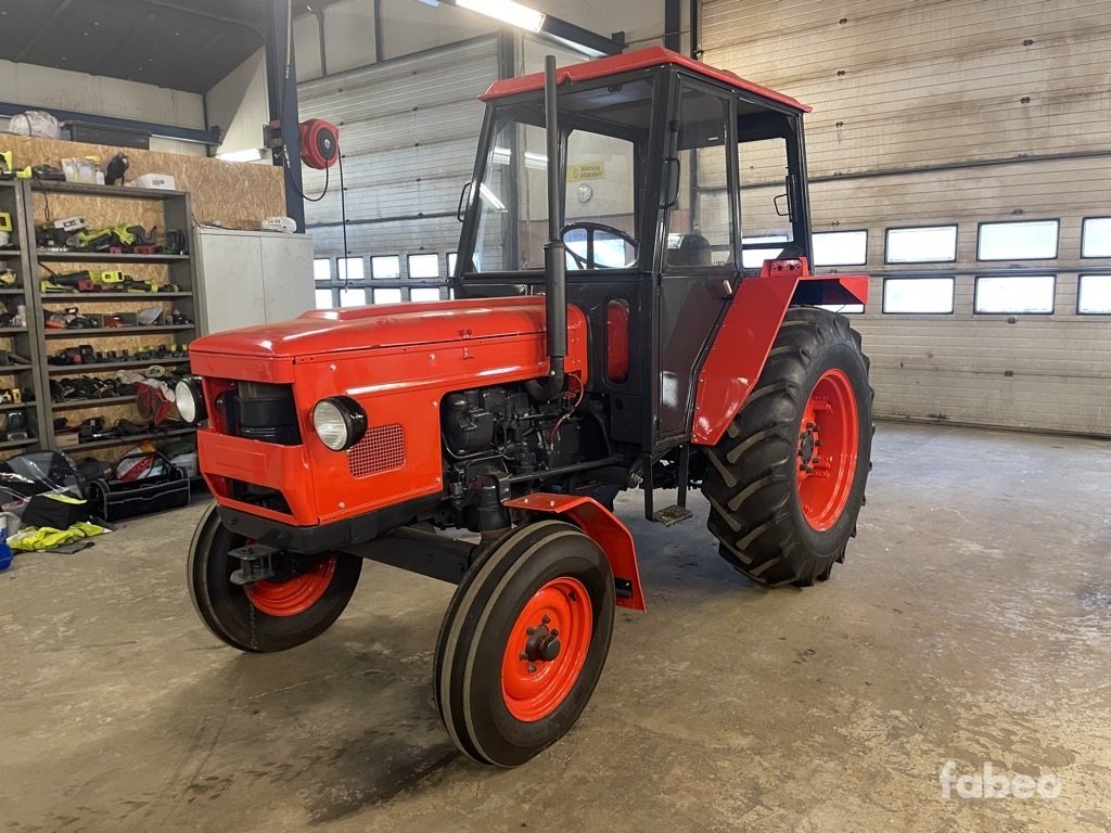
[[[791,98],[790,96],[775,92],[774,90],[753,83],[752,81],[745,81],[734,72],[714,69],[713,67],[702,63],[701,61],[695,61],[693,58],[688,58],[684,54],[673,52],[672,50],[664,49],[663,47],[649,47],[648,49],[639,49],[635,52],[625,52],[624,54],[612,56],[610,58],[599,58],[593,61],[574,63],[570,67],[561,67],[556,70],[556,83],[563,84],[568,81],[589,81],[595,78],[604,78],[605,76],[617,76],[631,70],[648,69],[650,67],[663,67],[667,64],[682,67],[683,69],[702,76],[703,78],[728,84],[735,90],[742,90],[743,92],[760,96],[761,98],[775,101],[780,104],[785,104],[787,107],[798,110],[799,112],[808,113],[811,110],[810,107]],[[544,73],[533,72],[530,76],[520,76],[518,78],[507,78],[501,81],[494,81],[490,84],[490,89],[479,96],[479,99],[482,101],[490,101],[492,99],[506,98],[507,96],[516,96],[520,92],[533,92],[536,90],[542,90],[543,88]]]

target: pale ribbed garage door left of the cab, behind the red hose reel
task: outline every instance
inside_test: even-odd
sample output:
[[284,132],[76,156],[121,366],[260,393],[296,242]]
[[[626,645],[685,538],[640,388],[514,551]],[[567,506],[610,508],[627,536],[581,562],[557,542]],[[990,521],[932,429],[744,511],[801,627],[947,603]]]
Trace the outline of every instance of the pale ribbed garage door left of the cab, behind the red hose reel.
[[[429,253],[439,257],[447,279],[447,255],[459,240],[456,207],[482,126],[477,97],[497,77],[491,37],[299,84],[302,120],[340,126],[348,251],[364,259],[368,283],[372,257],[399,257],[400,281],[374,284],[400,287],[408,255]],[[320,193],[324,172],[304,174],[306,193]],[[337,278],[343,250],[338,168],[328,175],[328,195],[306,204],[306,220],[316,257],[330,259]]]

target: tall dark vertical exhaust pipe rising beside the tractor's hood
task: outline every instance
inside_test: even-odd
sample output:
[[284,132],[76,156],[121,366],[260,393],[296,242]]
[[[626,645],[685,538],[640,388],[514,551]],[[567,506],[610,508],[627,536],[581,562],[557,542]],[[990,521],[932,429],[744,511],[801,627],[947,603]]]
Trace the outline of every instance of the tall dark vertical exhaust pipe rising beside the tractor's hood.
[[[538,399],[552,400],[563,391],[567,358],[567,247],[560,239],[559,117],[556,97],[556,57],[544,58],[544,121],[548,139],[548,242],[544,243],[544,317],[548,329],[548,379],[537,385]],[[542,391],[542,392],[541,392]]]

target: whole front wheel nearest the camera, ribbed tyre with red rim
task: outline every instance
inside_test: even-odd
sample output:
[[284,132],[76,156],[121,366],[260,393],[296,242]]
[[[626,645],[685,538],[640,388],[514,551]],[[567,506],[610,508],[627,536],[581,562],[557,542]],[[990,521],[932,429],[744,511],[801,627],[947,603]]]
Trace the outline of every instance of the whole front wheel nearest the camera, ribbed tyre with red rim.
[[577,526],[514,530],[463,576],[436,648],[436,702],[460,750],[517,766],[574,725],[613,632],[613,574]]

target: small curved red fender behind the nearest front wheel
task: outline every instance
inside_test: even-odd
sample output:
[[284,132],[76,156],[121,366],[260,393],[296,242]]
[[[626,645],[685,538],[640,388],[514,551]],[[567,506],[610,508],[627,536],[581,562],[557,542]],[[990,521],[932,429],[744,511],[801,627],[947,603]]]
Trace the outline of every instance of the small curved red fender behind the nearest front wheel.
[[632,533],[601,503],[593,498],[582,495],[532,492],[523,498],[506,501],[504,505],[529,512],[565,516],[585,532],[609,559],[613,580],[618,584],[618,606],[647,610],[644,593],[640,586],[637,546]]

